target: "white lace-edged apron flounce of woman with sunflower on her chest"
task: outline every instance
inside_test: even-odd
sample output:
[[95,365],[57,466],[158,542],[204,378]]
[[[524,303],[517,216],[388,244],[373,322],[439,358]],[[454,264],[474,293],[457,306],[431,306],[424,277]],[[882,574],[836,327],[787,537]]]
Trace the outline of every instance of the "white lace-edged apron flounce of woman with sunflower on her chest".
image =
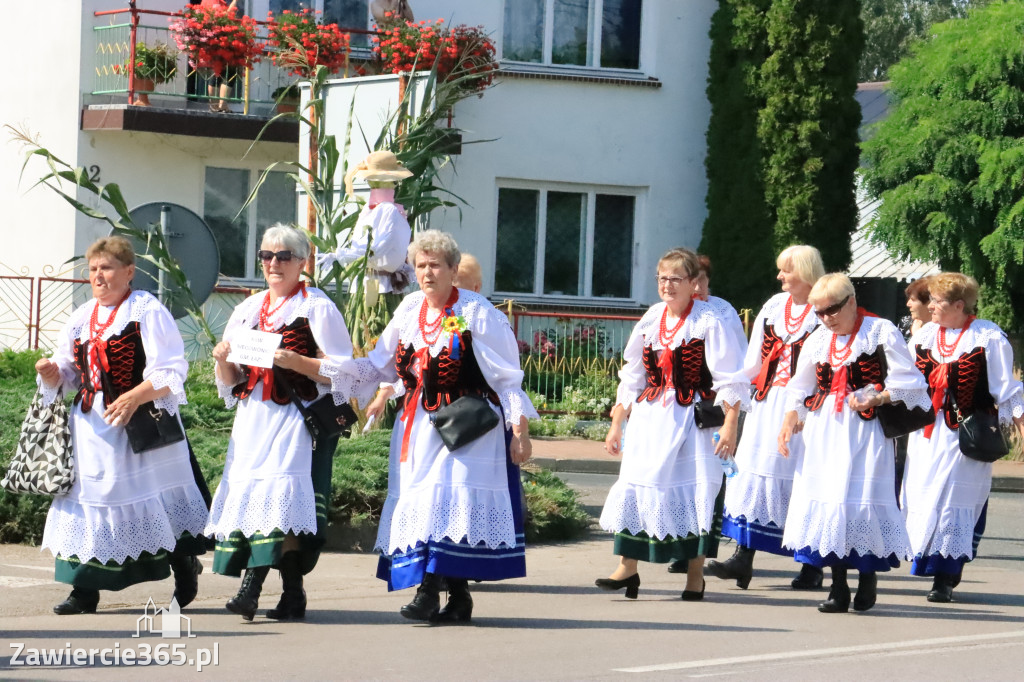
[[[449,539],[488,549],[515,547],[515,522],[507,491],[436,485],[408,491],[384,504],[377,549],[407,552],[418,543]],[[390,503],[390,504],[389,504]]]

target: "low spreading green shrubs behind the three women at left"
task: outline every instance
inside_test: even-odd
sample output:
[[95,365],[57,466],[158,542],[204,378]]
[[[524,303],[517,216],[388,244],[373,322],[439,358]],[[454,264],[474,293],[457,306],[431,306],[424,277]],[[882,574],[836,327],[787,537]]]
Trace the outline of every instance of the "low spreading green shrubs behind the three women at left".
[[[0,352],[0,470],[6,470],[17,445],[22,421],[35,394],[34,366],[40,356],[35,351]],[[234,411],[225,410],[217,395],[212,360],[191,365],[185,392],[188,404],[181,408],[181,420],[203,475],[210,489],[215,491],[224,472]],[[390,430],[379,429],[338,444],[331,476],[333,523],[358,528],[380,520],[387,497],[390,439]],[[561,479],[546,472],[524,472],[523,479],[528,506],[526,538],[530,542],[568,540],[587,527],[587,514],[575,493]],[[0,543],[38,545],[49,503],[50,498],[45,496],[0,491]]]

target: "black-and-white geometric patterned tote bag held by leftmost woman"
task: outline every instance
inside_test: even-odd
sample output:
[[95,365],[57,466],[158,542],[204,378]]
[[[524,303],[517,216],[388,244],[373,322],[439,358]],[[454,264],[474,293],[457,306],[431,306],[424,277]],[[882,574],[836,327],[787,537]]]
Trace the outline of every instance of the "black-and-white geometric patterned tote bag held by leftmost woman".
[[0,487],[17,494],[65,495],[74,483],[75,456],[63,393],[45,406],[36,393]]

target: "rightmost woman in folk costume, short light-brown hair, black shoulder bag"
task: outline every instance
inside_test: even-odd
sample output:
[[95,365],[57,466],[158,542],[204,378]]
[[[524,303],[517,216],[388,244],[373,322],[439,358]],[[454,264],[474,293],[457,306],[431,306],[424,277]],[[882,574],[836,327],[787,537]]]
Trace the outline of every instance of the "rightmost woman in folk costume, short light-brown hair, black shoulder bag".
[[944,603],[975,556],[992,483],[992,465],[961,452],[959,421],[987,412],[1024,436],[1024,397],[1007,335],[975,316],[978,283],[943,272],[929,278],[928,296],[932,322],[910,351],[928,379],[935,423],[910,434],[902,502],[910,572],[934,576],[928,600]]

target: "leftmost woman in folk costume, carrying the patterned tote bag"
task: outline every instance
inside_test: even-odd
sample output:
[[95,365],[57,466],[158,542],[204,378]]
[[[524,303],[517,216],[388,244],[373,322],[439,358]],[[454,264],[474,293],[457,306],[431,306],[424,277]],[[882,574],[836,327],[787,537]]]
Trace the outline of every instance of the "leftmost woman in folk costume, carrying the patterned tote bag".
[[[174,571],[179,606],[195,599],[206,551],[206,483],[197,481],[188,443],[135,452],[125,425],[138,410],[184,404],[188,364],[171,313],[132,291],[135,253],[123,237],[85,252],[93,299],[75,310],[52,358],[36,364],[44,399],[78,388],[71,414],[75,484],[53,499],[43,547],[56,580],[74,586],[57,614],[93,613],[100,590],[159,581]],[[207,493],[209,495],[209,493]]]

